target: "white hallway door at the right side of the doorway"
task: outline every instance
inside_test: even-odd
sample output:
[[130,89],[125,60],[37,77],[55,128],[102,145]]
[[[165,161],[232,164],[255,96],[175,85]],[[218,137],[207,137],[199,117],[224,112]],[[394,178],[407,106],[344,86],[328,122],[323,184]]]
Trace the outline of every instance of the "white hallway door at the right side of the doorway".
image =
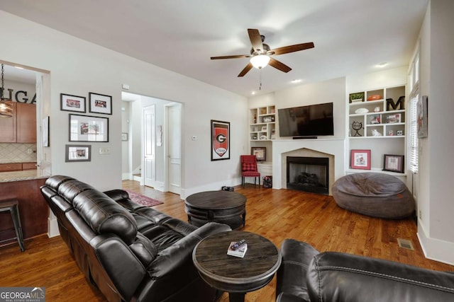
[[169,192],[181,194],[181,104],[170,105],[167,110],[167,184]]

